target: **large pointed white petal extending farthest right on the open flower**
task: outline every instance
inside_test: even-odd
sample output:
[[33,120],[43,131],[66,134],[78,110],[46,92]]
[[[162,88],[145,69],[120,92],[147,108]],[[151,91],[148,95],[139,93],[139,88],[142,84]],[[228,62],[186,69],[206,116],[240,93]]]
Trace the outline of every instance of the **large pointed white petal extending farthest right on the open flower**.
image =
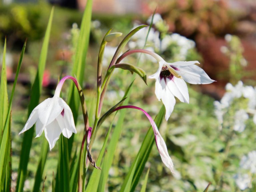
[[197,65],[190,66],[175,66],[179,70],[176,70],[179,75],[183,77],[183,79],[191,84],[209,84],[214,82],[205,71],[198,67]]

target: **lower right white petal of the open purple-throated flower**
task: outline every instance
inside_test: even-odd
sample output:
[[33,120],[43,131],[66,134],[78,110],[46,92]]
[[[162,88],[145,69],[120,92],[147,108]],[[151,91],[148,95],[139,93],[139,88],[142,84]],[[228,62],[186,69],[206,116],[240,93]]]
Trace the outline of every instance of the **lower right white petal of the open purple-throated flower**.
[[189,103],[188,87],[183,79],[173,77],[167,82],[167,87],[181,102]]

